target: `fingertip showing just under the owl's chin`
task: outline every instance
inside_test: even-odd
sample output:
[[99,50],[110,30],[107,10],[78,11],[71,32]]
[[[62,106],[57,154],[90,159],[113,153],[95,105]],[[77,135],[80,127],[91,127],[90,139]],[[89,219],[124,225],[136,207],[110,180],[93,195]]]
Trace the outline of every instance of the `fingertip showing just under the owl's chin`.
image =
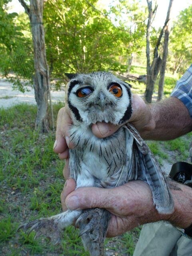
[[120,128],[118,125],[98,122],[92,125],[92,132],[98,138],[105,138],[114,134],[118,128]]

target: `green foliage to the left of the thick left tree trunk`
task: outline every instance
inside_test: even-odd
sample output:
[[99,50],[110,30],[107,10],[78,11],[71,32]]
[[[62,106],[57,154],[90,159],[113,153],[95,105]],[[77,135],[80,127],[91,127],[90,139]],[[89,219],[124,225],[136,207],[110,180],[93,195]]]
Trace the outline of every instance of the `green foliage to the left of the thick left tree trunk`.
[[0,72],[24,92],[21,78],[32,81],[32,39],[26,14],[8,13],[8,0],[0,1]]

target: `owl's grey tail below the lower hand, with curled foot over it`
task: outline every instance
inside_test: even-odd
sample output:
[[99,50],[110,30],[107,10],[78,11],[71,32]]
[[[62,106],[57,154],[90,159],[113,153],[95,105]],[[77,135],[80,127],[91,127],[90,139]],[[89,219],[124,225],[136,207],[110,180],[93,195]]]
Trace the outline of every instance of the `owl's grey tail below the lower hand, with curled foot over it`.
[[84,248],[90,252],[90,256],[104,256],[104,239],[110,217],[107,210],[95,208],[84,210],[77,220]]

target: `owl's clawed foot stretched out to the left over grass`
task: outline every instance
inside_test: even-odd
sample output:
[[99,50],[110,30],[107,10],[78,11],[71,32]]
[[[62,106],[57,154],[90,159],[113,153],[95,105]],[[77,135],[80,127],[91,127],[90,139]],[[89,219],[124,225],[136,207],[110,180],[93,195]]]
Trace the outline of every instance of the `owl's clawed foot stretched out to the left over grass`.
[[[55,245],[61,240],[60,238],[60,227],[59,222],[56,219],[51,218],[41,218],[38,220],[32,220],[28,223],[22,224],[18,227],[18,230],[24,229],[29,230],[28,235],[34,230],[36,231],[36,237],[44,234],[46,237],[50,238],[51,242]],[[17,230],[17,231],[18,231]]]

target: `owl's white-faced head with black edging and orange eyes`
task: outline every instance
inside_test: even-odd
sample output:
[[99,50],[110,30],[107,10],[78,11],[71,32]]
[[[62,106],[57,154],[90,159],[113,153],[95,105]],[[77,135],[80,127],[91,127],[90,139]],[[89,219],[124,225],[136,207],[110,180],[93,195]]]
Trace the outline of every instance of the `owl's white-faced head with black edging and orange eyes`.
[[66,103],[74,124],[123,124],[132,115],[130,84],[110,72],[66,74]]

